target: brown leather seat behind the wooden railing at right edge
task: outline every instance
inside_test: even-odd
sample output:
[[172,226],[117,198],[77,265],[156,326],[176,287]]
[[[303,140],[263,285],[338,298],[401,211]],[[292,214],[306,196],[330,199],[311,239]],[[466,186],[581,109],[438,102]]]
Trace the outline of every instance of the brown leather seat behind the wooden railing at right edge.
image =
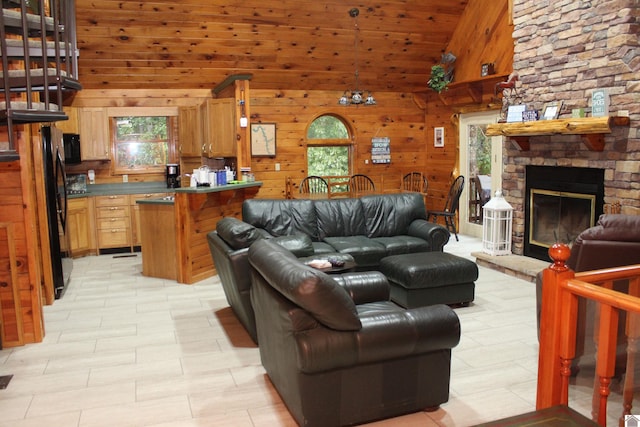
[[[595,226],[578,235],[571,246],[571,255],[567,265],[576,273],[640,264],[640,216],[604,214],[598,218]],[[536,300],[538,324],[542,304],[542,273],[536,278]],[[627,282],[614,283],[614,289],[628,292]],[[593,343],[593,319],[595,304],[580,299],[578,305],[578,329],[576,331],[576,355],[582,361],[593,362],[595,351]],[[618,353],[626,352],[625,313],[621,313],[618,330]],[[574,366],[581,361],[576,359]]]

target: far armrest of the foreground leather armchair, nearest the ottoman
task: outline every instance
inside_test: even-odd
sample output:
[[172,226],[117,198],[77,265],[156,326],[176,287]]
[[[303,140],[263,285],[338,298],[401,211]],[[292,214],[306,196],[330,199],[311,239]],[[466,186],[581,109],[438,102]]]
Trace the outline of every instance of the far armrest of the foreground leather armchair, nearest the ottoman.
[[356,305],[389,300],[389,282],[379,271],[336,274],[333,280],[347,290]]

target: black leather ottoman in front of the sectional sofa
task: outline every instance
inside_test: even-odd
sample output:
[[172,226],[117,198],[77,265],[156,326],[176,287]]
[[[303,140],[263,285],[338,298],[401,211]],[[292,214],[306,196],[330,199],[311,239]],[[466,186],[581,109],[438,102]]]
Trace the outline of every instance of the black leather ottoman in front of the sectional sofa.
[[445,252],[392,255],[380,261],[391,300],[406,308],[434,304],[467,306],[473,301],[475,262]]

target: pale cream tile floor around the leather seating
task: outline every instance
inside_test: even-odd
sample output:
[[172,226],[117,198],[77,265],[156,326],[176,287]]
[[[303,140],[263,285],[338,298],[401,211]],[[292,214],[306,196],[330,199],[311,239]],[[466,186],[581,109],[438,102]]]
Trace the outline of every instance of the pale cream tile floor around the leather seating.
[[[446,251],[471,257],[478,239]],[[227,306],[217,277],[146,278],[141,255],[76,259],[45,307],[44,342],[0,351],[0,426],[295,426]],[[471,426],[534,409],[538,343],[530,282],[480,267],[456,309],[451,397],[435,412],[371,426]]]

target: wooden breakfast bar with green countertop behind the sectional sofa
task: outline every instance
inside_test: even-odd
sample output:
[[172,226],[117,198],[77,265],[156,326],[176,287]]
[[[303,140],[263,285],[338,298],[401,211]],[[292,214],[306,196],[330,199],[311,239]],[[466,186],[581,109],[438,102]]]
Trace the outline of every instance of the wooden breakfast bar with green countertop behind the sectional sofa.
[[207,233],[225,216],[240,218],[259,181],[176,188],[173,200],[140,200],[142,274],[192,284],[216,274]]

